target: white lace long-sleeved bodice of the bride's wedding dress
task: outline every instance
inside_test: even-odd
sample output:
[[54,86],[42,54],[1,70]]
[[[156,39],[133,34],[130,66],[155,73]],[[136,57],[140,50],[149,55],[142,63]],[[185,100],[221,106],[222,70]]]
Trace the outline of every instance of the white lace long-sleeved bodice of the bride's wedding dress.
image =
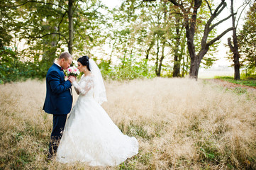
[[82,75],[80,81],[73,81],[72,85],[74,86],[75,91],[79,96],[93,97],[94,95],[94,75],[89,75],[84,77]]

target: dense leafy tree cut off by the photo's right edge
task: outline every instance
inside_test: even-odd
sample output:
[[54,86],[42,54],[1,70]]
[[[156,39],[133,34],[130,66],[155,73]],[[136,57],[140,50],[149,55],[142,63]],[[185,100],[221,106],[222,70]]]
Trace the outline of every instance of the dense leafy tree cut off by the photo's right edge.
[[242,61],[248,69],[256,68],[256,2],[250,7],[245,17],[243,29],[238,35],[239,49]]

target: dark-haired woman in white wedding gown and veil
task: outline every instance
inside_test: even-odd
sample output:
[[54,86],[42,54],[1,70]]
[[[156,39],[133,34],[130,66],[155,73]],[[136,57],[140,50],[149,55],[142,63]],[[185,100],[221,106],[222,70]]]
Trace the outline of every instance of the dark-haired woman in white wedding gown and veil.
[[69,81],[79,98],[67,119],[56,160],[85,162],[90,166],[121,164],[138,154],[138,140],[123,135],[101,107],[106,101],[106,90],[94,60],[83,56],[77,63],[84,74],[78,83],[75,77],[69,77]]

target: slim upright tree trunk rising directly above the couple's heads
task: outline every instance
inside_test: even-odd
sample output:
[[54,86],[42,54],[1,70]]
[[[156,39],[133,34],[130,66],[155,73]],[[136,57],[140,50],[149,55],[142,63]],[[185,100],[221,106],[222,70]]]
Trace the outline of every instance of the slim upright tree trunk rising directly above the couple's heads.
[[69,42],[68,42],[68,50],[69,50],[69,53],[72,55],[73,54],[73,38],[74,38],[73,0],[69,0],[68,16],[69,16]]

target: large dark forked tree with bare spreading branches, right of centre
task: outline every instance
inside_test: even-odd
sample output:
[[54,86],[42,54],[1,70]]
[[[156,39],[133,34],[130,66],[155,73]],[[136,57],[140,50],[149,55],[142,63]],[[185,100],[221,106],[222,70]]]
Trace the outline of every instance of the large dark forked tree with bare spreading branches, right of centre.
[[[206,53],[209,50],[209,47],[213,45],[216,41],[220,40],[220,38],[223,37],[228,31],[233,30],[233,28],[228,28],[220,35],[216,36],[216,38],[213,38],[211,40],[208,40],[208,35],[220,23],[223,23],[223,21],[228,20],[232,15],[223,18],[221,21],[218,21],[217,23],[213,23],[213,20],[216,19],[216,17],[223,11],[223,9],[226,7],[225,0],[221,0],[221,3],[218,4],[217,8],[213,11],[211,8],[211,4],[206,1],[206,4],[208,6],[209,11],[211,12],[211,17],[208,18],[208,21],[206,22],[206,25],[204,26],[204,35],[201,39],[201,47],[199,49],[199,52],[196,53],[196,47],[194,45],[194,35],[196,32],[196,21],[198,17],[198,11],[199,8],[202,6],[203,1],[202,0],[194,0],[191,2],[190,6],[192,8],[189,8],[189,6],[186,6],[187,3],[184,3],[183,1],[177,1],[177,0],[169,0],[174,6],[179,7],[182,10],[182,13],[184,15],[184,26],[186,29],[186,36],[187,36],[187,47],[189,50],[189,57],[191,59],[190,64],[190,71],[189,71],[189,77],[197,79],[198,73],[199,73],[199,67],[201,60],[206,55]],[[191,12],[190,12],[191,11]]]

